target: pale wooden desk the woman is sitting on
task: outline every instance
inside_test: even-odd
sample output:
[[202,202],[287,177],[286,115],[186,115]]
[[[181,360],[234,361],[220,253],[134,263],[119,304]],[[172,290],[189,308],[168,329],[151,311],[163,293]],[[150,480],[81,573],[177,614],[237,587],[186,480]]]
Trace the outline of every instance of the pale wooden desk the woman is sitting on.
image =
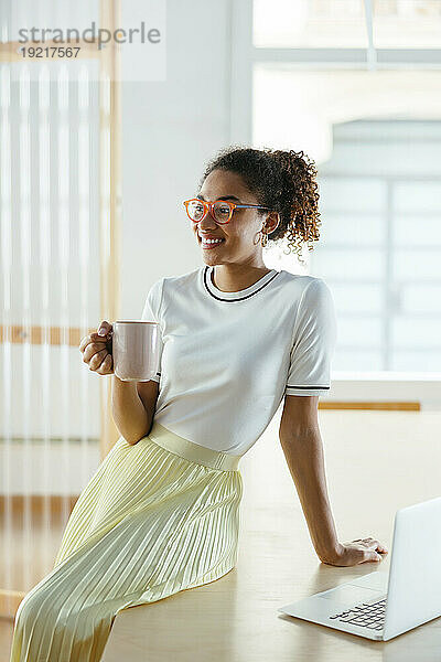
[[348,568],[315,555],[278,439],[279,416],[241,460],[237,566],[209,585],[121,611],[103,662],[441,661],[441,618],[376,642],[277,611],[389,569],[396,510],[441,492],[441,413],[320,413],[340,540],[374,536],[389,549],[379,564]]

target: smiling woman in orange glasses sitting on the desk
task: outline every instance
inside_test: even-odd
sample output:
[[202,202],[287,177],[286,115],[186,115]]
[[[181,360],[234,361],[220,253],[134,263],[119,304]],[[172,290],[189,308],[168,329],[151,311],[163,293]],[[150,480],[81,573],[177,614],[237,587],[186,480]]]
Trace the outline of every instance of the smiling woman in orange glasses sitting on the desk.
[[[367,537],[341,543],[318,424],[336,339],[321,278],[268,269],[267,241],[300,253],[318,239],[316,170],[303,152],[229,148],[184,202],[204,265],[151,287],[160,325],[150,382],[114,375],[121,437],[79,495],[54,569],[20,604],[11,662],[95,662],[116,615],[214,581],[237,559],[239,459],[284,397],[279,437],[318,557],[378,560]],[[311,246],[309,246],[311,249]],[[300,255],[299,255],[300,257]],[[111,324],[83,339],[83,361],[112,374]]]

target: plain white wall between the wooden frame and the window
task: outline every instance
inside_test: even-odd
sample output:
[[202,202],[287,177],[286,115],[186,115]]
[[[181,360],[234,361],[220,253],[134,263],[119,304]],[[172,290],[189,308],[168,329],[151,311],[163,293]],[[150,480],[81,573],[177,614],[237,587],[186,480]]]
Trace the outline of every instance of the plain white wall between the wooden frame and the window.
[[203,264],[182,201],[229,143],[229,0],[169,0],[166,81],[122,84],[123,317],[158,278]]

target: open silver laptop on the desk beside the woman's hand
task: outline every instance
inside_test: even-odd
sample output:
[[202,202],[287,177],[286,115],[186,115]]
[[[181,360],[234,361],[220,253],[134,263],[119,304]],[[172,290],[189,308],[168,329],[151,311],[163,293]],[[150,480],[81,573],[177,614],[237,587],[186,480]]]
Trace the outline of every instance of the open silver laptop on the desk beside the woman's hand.
[[369,573],[278,611],[388,641],[441,616],[440,559],[441,496],[397,511],[389,572]]

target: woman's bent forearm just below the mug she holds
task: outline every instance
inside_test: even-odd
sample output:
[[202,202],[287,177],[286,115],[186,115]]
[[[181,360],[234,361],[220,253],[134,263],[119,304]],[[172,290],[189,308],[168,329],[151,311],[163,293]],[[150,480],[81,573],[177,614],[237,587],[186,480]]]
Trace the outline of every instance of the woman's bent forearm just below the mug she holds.
[[138,395],[137,382],[111,377],[111,415],[119,434],[128,444],[137,444],[149,434],[152,415],[146,410]]

